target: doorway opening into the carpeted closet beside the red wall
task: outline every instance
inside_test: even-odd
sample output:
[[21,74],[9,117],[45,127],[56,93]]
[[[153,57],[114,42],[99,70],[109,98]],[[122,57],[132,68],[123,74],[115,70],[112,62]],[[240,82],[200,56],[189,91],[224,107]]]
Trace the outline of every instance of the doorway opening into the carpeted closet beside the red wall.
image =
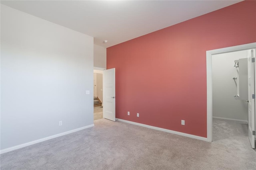
[[[248,141],[248,50],[212,55],[212,126],[213,141],[247,143]],[[238,63],[236,61],[245,61]],[[245,99],[234,96],[241,88],[240,77],[246,78],[241,94]],[[243,75],[241,75],[243,74]],[[240,95],[241,97],[241,95]],[[245,144],[244,144],[245,145]]]

